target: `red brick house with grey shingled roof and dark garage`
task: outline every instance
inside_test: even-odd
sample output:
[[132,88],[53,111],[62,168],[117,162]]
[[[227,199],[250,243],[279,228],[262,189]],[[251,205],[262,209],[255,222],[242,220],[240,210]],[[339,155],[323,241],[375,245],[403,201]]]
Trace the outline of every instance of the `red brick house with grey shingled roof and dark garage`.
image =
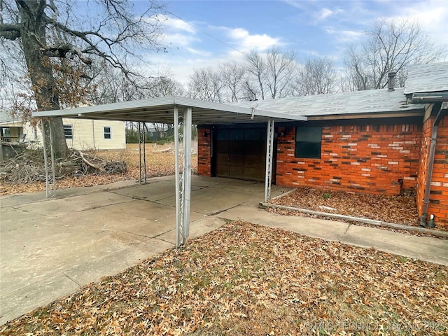
[[[275,124],[272,180],[353,193],[416,190],[421,225],[448,226],[448,62],[415,66],[404,88],[237,106],[304,116]],[[198,125],[198,174],[265,179],[266,124]],[[433,140],[431,140],[433,139]]]

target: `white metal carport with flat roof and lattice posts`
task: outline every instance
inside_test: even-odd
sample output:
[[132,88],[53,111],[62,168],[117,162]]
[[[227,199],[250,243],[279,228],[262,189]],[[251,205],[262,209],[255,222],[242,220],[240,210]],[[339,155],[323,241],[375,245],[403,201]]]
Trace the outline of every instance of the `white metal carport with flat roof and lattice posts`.
[[[306,121],[302,116],[286,116],[272,111],[258,110],[257,102],[252,107],[240,107],[212,102],[203,102],[185,97],[161,97],[142,99],[133,102],[120,102],[98,106],[85,106],[76,109],[38,111],[33,117],[42,118],[42,124],[51,121],[48,118],[81,118],[96,120],[121,120],[139,123],[165,123],[174,125],[174,143],[176,158],[176,246],[185,244],[190,230],[190,195],[191,195],[191,127],[192,125],[236,125],[250,123],[267,124],[266,143],[266,172],[265,172],[265,202],[270,199],[272,184],[272,165],[274,150],[274,123],[276,121]],[[42,125],[43,126],[43,125]],[[44,129],[44,127],[42,127]],[[46,195],[54,195],[56,190],[54,176],[54,155],[50,132],[50,148],[45,146],[45,132],[43,144],[45,162],[50,157],[50,165],[45,167]],[[140,137],[141,144],[144,138]],[[181,146],[183,151],[181,151]],[[144,146],[143,146],[144,148]],[[144,150],[143,150],[144,153]],[[140,156],[140,158],[142,158]],[[144,156],[143,156],[144,158]],[[179,159],[181,158],[181,160]],[[141,160],[141,159],[140,159]],[[143,165],[145,166],[145,165]],[[140,165],[142,167],[142,165]],[[140,174],[142,176],[142,172]],[[145,174],[143,174],[145,176]],[[141,180],[141,179],[140,179]],[[52,184],[52,193],[50,193]]]

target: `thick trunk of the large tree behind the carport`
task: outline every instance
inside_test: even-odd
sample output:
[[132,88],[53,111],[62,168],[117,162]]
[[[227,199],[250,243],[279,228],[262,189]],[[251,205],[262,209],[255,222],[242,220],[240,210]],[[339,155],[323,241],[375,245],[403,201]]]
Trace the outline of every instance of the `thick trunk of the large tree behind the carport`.
[[[21,18],[20,36],[38,111],[60,109],[51,61],[39,48],[39,45],[46,45],[45,22],[42,20],[44,6],[45,1],[26,1],[26,8],[18,3]],[[69,148],[64,137],[62,118],[52,118],[51,126],[55,158],[64,158],[69,154]],[[48,135],[46,138],[49,148],[50,130],[42,131]]]

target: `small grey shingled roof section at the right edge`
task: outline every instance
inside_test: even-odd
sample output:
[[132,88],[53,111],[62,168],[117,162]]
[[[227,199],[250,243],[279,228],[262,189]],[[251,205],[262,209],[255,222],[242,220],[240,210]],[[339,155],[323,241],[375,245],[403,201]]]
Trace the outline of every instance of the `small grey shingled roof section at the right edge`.
[[448,62],[409,68],[405,94],[448,91]]

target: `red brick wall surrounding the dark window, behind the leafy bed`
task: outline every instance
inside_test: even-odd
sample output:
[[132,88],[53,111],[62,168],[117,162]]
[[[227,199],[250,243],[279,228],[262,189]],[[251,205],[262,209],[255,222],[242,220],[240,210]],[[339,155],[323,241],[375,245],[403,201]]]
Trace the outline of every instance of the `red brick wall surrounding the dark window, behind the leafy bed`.
[[421,126],[353,125],[322,129],[321,159],[295,158],[295,127],[279,127],[276,183],[398,195],[416,187]]

